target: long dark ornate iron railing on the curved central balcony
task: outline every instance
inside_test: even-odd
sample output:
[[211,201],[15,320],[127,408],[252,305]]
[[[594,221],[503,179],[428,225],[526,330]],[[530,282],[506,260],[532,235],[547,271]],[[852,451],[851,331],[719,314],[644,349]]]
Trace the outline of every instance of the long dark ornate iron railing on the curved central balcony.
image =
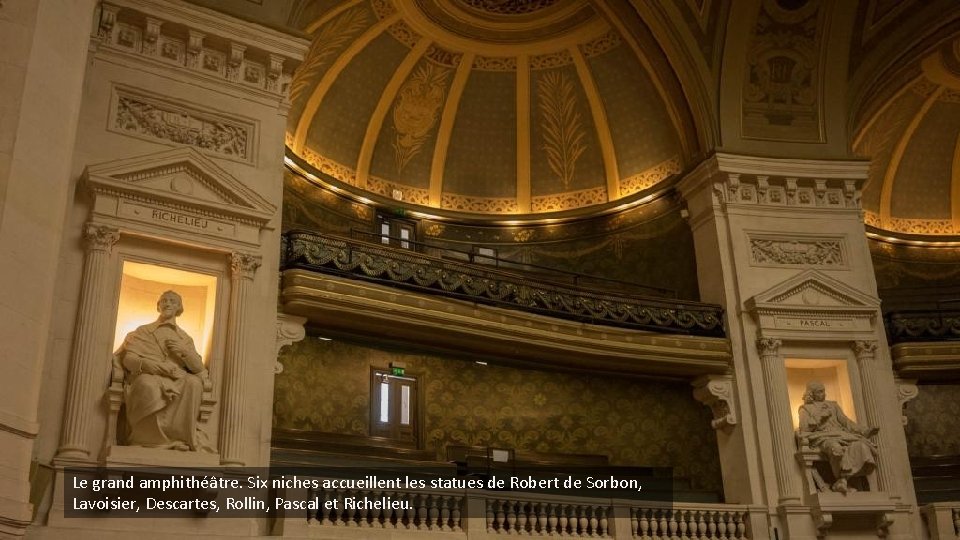
[[481,264],[308,231],[285,233],[281,249],[284,270],[300,268],[348,276],[591,324],[724,335],[723,310],[712,304],[597,292]]

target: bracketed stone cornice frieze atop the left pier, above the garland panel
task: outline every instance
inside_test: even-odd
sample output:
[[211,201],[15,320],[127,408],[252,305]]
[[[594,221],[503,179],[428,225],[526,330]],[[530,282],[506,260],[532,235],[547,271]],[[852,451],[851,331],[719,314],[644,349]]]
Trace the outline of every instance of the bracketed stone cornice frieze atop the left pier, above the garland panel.
[[[215,19],[189,6],[155,4],[155,0],[104,2],[102,13],[94,39],[107,50],[156,60],[268,95],[287,95],[293,70],[307,48],[306,40],[240,21]],[[163,18],[158,18],[161,14]]]

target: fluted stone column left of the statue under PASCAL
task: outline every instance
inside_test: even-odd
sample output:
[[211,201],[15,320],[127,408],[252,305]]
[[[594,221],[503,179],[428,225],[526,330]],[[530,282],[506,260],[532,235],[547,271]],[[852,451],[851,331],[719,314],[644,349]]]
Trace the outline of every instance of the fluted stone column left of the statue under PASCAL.
[[767,410],[770,411],[770,434],[773,440],[773,461],[780,488],[780,502],[800,502],[800,490],[792,464],[796,453],[790,401],[787,399],[787,372],[780,359],[779,339],[760,338],[760,367],[766,387]]

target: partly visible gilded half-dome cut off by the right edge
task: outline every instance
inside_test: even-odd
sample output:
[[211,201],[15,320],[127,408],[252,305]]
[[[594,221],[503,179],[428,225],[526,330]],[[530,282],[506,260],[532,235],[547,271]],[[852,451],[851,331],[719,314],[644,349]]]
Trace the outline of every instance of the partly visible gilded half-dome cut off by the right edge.
[[895,233],[960,235],[960,40],[942,44],[909,75],[854,140],[854,150],[871,158],[865,220]]

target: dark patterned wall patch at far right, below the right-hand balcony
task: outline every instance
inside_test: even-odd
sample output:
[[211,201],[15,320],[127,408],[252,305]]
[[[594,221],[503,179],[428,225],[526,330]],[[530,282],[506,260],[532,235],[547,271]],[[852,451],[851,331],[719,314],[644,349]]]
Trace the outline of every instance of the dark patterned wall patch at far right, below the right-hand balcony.
[[960,385],[927,384],[907,404],[911,456],[960,455]]

